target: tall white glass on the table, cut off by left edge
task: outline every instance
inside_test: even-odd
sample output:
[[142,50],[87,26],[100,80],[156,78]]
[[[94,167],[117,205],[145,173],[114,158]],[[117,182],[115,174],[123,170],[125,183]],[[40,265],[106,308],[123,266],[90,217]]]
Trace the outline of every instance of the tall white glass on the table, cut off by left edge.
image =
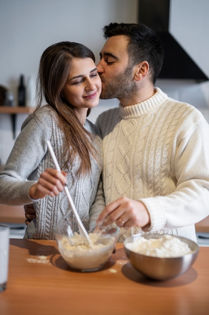
[[7,288],[10,228],[0,224],[0,292]]

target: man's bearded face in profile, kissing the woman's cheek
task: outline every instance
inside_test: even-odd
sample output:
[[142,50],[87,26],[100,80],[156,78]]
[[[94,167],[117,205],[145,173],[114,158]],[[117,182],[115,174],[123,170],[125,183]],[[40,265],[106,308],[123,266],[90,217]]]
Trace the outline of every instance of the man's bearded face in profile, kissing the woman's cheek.
[[102,82],[100,99],[118,98],[122,100],[131,97],[136,91],[133,66],[129,64],[127,44],[126,36],[113,36],[106,41],[100,52],[101,59],[97,64]]

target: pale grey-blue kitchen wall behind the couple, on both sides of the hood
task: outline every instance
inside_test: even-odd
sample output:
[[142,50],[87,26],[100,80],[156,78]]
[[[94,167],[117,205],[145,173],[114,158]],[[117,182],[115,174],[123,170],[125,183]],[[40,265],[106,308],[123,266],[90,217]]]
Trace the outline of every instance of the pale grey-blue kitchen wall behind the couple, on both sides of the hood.
[[[157,0],[156,0],[157,1]],[[209,2],[171,0],[170,32],[209,76]],[[110,22],[137,23],[138,0],[0,0],[0,85],[17,97],[21,73],[35,81],[39,59],[46,47],[64,40],[91,48],[99,60],[104,43],[102,27]],[[183,69],[179,69],[182,71]],[[171,97],[197,107],[209,122],[209,83],[158,80],[156,86]],[[89,119],[118,106],[101,100]],[[17,115],[17,134],[27,115]],[[4,164],[14,144],[11,117],[0,115],[0,159]]]

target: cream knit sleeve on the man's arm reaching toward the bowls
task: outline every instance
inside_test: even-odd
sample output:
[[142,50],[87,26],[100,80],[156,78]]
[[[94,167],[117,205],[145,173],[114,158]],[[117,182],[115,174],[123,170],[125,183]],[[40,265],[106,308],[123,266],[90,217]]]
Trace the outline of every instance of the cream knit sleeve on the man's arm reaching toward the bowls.
[[209,126],[202,119],[186,127],[173,145],[175,191],[166,196],[140,199],[151,218],[151,226],[146,231],[191,225],[209,214]]

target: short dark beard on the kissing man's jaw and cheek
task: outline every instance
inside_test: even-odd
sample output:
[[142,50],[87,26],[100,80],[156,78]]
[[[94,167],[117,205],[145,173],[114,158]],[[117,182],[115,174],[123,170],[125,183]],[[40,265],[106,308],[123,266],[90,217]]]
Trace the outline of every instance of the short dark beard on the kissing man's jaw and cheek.
[[101,81],[104,83],[102,87],[100,99],[122,99],[129,98],[137,90],[135,82],[132,79],[133,66],[128,66],[124,72],[117,74],[108,81],[103,81],[101,74]]

